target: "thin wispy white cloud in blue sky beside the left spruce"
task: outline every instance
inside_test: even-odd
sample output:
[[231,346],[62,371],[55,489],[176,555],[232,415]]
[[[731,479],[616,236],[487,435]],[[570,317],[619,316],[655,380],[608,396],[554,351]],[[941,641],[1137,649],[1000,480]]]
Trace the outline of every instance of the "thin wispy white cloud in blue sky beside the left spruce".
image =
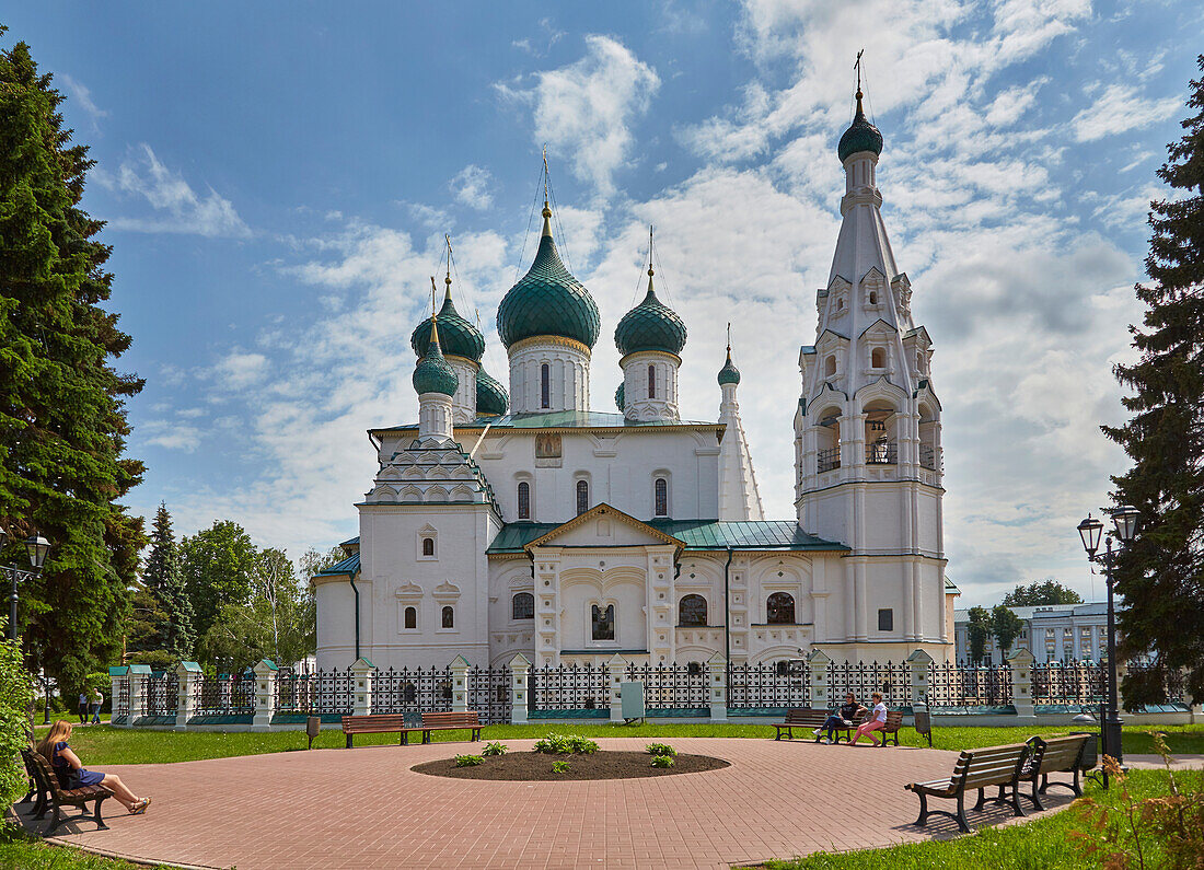
[[108,225],[113,229],[208,237],[250,235],[230,200],[212,188],[206,195],[197,195],[184,177],[167,168],[144,142],[122,162],[116,174],[93,170],[93,176],[110,190],[142,197],[154,209],[150,218],[111,218]]

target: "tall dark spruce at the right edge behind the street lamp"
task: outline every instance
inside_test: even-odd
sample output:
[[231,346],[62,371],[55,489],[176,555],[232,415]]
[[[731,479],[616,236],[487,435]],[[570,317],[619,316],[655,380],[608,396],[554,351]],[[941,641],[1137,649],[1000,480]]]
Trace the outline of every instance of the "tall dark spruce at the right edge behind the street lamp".
[[[1204,55],[1197,59],[1204,72]],[[1137,285],[1139,360],[1116,366],[1132,419],[1104,427],[1133,460],[1112,498],[1141,511],[1137,540],[1116,561],[1121,656],[1153,653],[1158,668],[1126,680],[1127,702],[1165,699],[1162,669],[1185,669],[1204,698],[1204,77],[1158,170],[1176,195],[1151,203],[1149,284]]]

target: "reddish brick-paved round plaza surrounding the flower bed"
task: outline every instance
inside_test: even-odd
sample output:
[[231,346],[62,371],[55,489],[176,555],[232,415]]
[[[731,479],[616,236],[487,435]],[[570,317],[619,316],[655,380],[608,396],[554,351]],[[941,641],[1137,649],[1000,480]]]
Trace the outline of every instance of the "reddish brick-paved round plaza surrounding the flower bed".
[[[598,742],[603,748],[642,746],[633,739]],[[510,751],[531,744],[507,741]],[[948,774],[952,752],[715,738],[672,744],[731,767],[600,782],[488,782],[409,770],[462,752],[466,744],[113,765],[106,770],[120,774],[138,794],[153,795],[150,810],[118,815],[120,807],[110,800],[110,830],[65,825],[59,839],[140,859],[238,870],[654,870],[887,846],[955,831],[939,816],[927,830],[914,827],[919,801],[903,791],[907,782]],[[861,798],[866,792],[874,793],[872,801]],[[1061,807],[1068,799],[1051,797],[1050,803]],[[970,813],[979,824],[1008,817],[1002,807]]]

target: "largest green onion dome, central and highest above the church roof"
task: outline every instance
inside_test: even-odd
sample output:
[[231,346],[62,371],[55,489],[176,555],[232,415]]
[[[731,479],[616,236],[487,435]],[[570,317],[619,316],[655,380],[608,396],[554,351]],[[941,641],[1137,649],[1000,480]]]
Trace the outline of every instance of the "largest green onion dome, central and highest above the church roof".
[[543,233],[535,262],[497,307],[497,335],[507,348],[535,336],[572,338],[592,348],[602,330],[590,291],[560,261],[550,217],[551,209],[544,203]]

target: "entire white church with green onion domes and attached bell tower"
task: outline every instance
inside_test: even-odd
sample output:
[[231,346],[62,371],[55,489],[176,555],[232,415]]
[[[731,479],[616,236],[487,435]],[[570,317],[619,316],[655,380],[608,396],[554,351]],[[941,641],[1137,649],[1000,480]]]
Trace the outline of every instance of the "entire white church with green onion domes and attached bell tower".
[[313,578],[320,668],[498,667],[520,652],[536,667],[813,649],[951,659],[932,345],[883,224],[883,136],[856,96],[843,224],[798,357],[796,516],[762,514],[730,347],[719,419],[680,419],[686,327],[651,268],[614,331],[619,413],[595,409],[598,308],[561,262],[545,202],[535,262],[497,310],[508,395],[450,277],[413,333],[418,422],[368,431],[379,469],[355,505],[360,534]]

